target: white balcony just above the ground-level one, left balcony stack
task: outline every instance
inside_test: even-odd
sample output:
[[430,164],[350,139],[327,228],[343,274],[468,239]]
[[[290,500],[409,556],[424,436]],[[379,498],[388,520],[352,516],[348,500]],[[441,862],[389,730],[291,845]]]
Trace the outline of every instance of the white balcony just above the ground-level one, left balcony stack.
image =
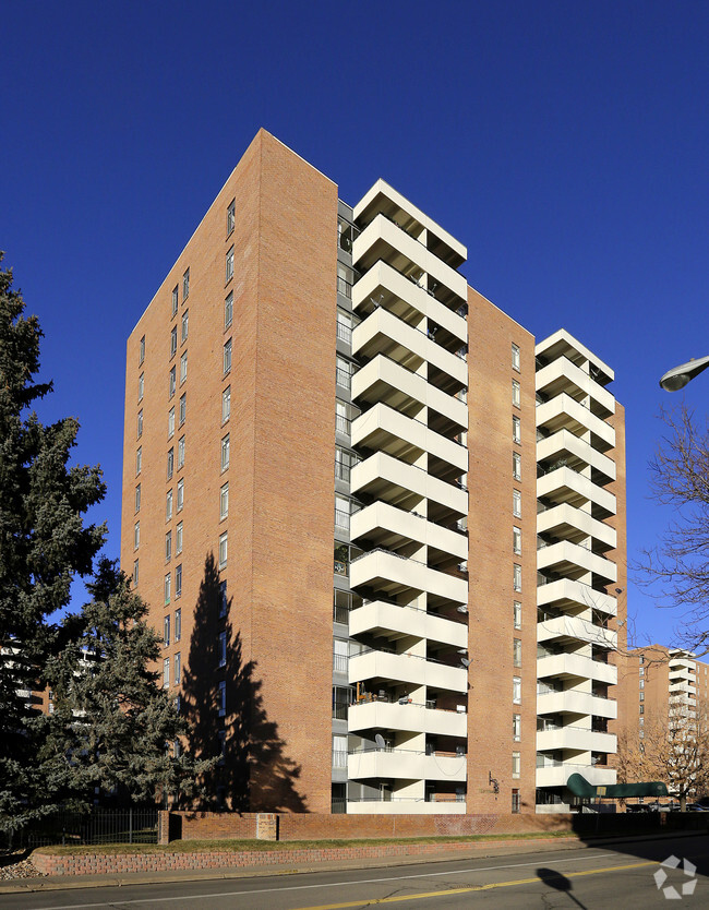
[[347,776],[352,780],[393,778],[399,780],[450,780],[467,778],[465,755],[425,755],[395,749],[392,752],[356,752],[347,756]]

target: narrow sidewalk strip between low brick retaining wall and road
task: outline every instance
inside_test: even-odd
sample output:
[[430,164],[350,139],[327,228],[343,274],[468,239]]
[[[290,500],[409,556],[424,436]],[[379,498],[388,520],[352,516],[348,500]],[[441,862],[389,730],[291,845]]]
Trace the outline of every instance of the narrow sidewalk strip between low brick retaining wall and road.
[[336,860],[311,864],[293,865],[274,862],[257,869],[224,866],[209,870],[171,870],[168,872],[137,872],[123,875],[46,875],[36,878],[17,878],[0,883],[0,895],[26,894],[32,891],[72,890],[76,888],[101,888],[117,885],[158,885],[167,882],[200,882],[204,879],[256,878],[268,875],[296,875],[307,872],[335,872],[352,869],[390,869],[402,865],[421,865],[422,863],[444,863],[455,860],[480,859],[484,857],[507,857],[520,853],[544,853],[555,850],[576,850],[593,847],[609,847],[614,843],[664,840],[669,837],[697,837],[702,831],[674,831],[672,834],[652,834],[636,837],[604,837],[598,840],[581,840],[578,837],[540,838],[536,840],[497,840],[477,841],[466,850],[446,850],[442,848],[425,857],[383,857],[363,860]]

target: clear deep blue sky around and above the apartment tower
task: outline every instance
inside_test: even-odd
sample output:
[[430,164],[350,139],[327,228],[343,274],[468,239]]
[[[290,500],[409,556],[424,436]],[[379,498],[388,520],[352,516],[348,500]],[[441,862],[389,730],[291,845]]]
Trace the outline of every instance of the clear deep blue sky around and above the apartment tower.
[[[709,5],[9,0],[0,248],[41,321],[44,419],[75,415],[119,552],[125,338],[265,127],[356,202],[388,180],[468,247],[469,283],[614,367],[630,556],[661,403],[704,420]],[[629,588],[639,637],[678,615]]]

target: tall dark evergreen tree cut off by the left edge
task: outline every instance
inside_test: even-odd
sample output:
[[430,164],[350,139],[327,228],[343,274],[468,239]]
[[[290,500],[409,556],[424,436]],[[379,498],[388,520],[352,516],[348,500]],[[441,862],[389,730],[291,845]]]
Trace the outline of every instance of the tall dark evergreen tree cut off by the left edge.
[[51,647],[47,618],[69,603],[74,575],[92,572],[105,536],[83,523],[105,494],[100,468],[69,466],[79,423],[45,427],[32,410],[52,385],[35,382],[43,333],[12,282],[0,270],[0,830],[41,812],[26,693]]

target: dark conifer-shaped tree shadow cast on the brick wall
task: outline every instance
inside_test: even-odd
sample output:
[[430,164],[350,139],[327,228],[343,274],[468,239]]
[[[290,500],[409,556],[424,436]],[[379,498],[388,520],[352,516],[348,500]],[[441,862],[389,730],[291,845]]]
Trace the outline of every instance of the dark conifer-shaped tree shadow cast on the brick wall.
[[[296,789],[300,765],[286,755],[278,725],[268,720],[261,693],[263,683],[255,678],[257,664],[243,660],[241,634],[233,633],[230,622],[231,606],[232,598],[223,598],[219,572],[209,553],[182,679],[191,751],[202,758],[221,755],[205,776],[203,807],[307,812],[305,800]],[[287,680],[283,682],[287,684]],[[220,683],[225,690],[224,714]]]

